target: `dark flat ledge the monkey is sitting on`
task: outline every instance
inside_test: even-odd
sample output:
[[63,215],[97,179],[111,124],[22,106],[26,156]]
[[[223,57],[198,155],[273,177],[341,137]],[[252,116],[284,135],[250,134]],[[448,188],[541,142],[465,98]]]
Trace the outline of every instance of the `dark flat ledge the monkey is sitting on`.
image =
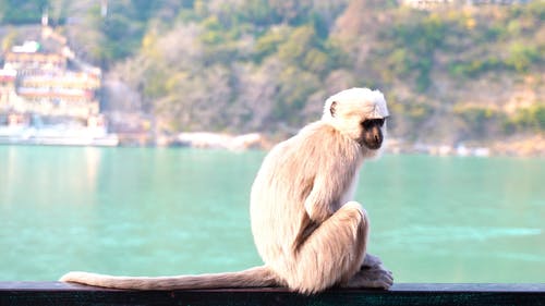
[[545,283],[399,283],[389,291],[280,287],[125,291],[60,282],[0,282],[0,305],[545,305]]

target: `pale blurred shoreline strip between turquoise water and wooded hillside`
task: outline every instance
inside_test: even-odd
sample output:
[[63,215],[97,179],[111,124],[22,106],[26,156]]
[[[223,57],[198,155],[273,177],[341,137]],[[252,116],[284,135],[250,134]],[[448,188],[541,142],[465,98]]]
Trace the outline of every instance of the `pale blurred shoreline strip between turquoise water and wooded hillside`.
[[[62,138],[56,135],[55,142],[50,137],[33,142],[0,137],[0,145],[32,145],[32,146],[88,146],[88,147],[186,147],[197,149],[220,149],[229,151],[245,151],[250,149],[269,150],[279,143],[277,137],[259,133],[232,135],[227,133],[192,132],[177,135],[140,134],[137,137],[114,135],[116,142],[102,144],[100,142],[83,142],[73,137]],[[118,139],[119,136],[119,139]],[[400,138],[386,140],[385,154],[392,155],[428,155],[457,157],[535,157],[545,158],[545,135],[518,135],[499,140],[468,142],[457,145],[407,142]]]

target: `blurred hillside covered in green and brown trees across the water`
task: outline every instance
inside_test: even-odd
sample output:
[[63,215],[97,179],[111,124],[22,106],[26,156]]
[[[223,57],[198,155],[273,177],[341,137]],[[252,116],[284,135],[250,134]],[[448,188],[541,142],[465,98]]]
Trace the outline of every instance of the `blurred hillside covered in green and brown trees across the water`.
[[[3,2],[8,48],[32,17],[8,19]],[[49,7],[80,56],[106,69],[108,110],[149,113],[162,132],[284,137],[317,119],[329,95],[366,86],[386,94],[389,134],[405,143],[529,139],[529,154],[543,155],[543,1],[433,11],[372,0],[111,1],[106,14],[87,1],[28,3],[25,12]]]

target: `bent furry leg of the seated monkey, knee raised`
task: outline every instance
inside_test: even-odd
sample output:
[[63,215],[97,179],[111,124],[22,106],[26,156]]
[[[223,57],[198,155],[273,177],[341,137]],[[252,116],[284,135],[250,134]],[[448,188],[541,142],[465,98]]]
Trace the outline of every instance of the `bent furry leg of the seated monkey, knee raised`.
[[362,206],[344,204],[306,238],[294,258],[287,260],[288,272],[281,277],[303,293],[349,283],[363,264],[367,231]]

